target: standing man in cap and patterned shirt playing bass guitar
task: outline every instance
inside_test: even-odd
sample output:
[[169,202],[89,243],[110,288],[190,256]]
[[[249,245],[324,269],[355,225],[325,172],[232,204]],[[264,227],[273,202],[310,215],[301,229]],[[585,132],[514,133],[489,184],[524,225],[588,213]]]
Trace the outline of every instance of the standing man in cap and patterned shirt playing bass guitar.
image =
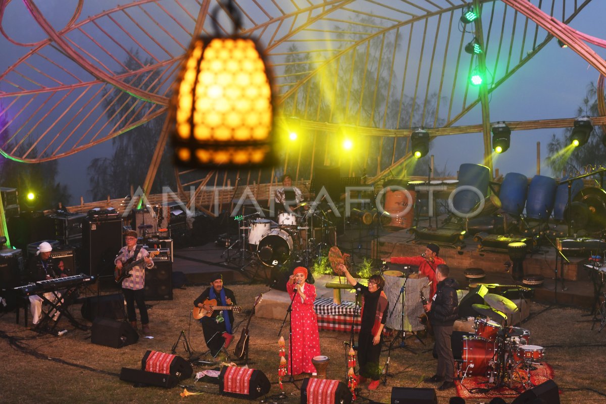
[[144,259],[145,265],[135,265],[130,270],[130,277],[122,280],[122,293],[124,293],[124,300],[126,300],[126,313],[128,315],[128,321],[133,328],[137,329],[137,314],[135,313],[135,302],[139,308],[139,316],[141,316],[141,331],[145,335],[150,334],[149,328],[149,317],[147,315],[147,307],[145,306],[145,268],[153,268],[153,260],[151,260],[150,254],[145,248],[138,247],[137,245],[137,232],[135,230],[128,230],[125,233],[124,240],[126,245],[121,248],[118,256],[114,260],[116,268],[122,269],[122,265],[129,259],[135,262],[136,260]]

